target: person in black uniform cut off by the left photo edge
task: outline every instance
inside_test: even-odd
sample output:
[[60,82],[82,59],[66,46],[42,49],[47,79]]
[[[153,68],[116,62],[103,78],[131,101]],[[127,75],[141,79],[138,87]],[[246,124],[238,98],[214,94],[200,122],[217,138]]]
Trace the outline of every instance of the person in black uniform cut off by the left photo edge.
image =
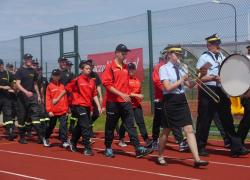
[[3,112],[3,123],[8,135],[8,140],[14,140],[13,120],[10,91],[13,81],[12,74],[4,69],[4,62],[0,59],[0,112]]

